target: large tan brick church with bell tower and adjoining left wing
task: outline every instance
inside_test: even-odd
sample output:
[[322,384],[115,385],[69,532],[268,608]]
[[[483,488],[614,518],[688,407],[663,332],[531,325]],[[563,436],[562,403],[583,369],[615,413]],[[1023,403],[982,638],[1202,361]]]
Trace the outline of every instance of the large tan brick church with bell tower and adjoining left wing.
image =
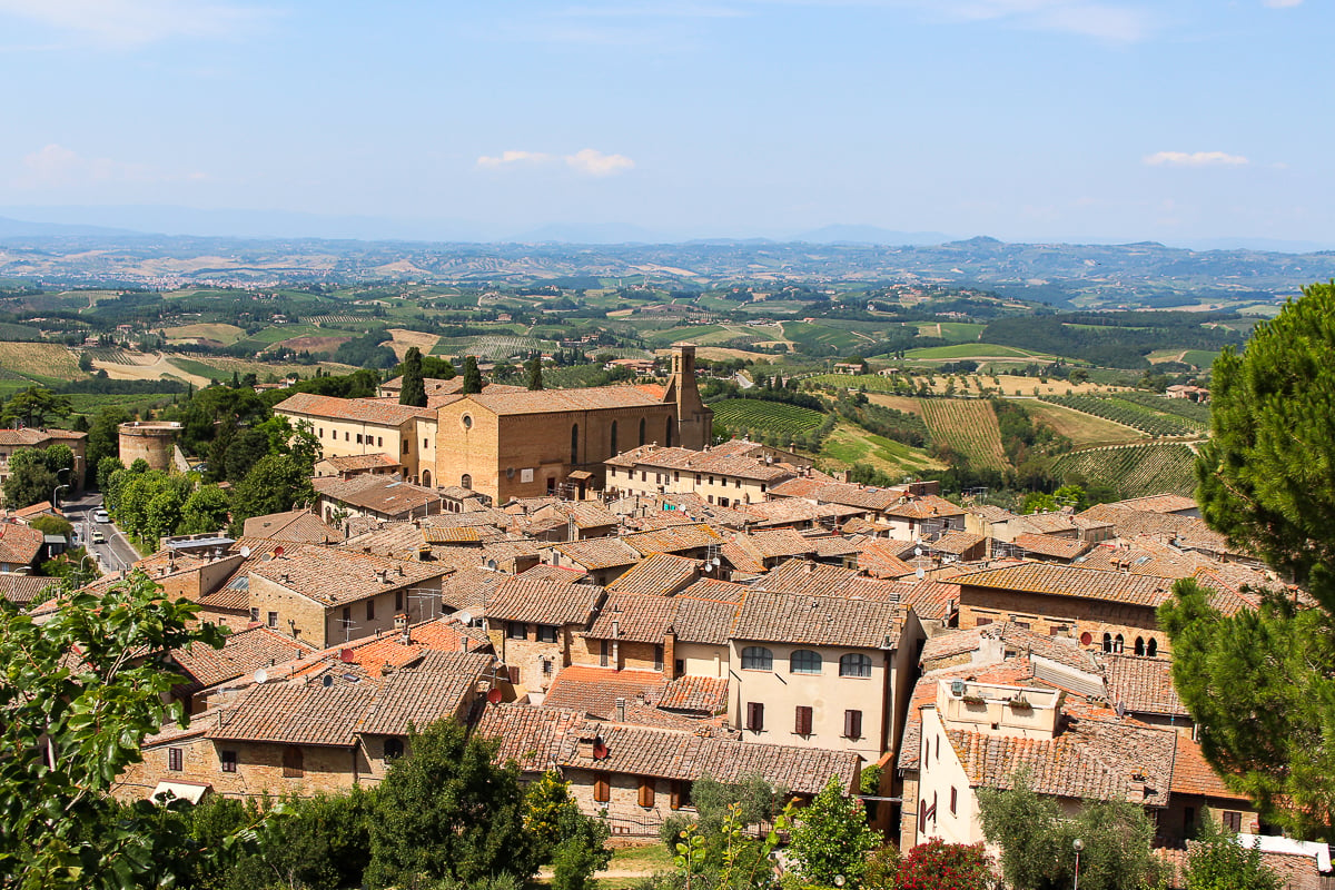
[[585,390],[427,380],[427,406],[400,406],[394,387],[374,399],[299,392],[274,407],[291,423],[311,424],[326,458],[383,454],[406,478],[427,487],[458,486],[506,503],[603,487],[603,462],[642,444],[701,450],[714,412],[696,386],[696,347],[680,346],[666,386]]

